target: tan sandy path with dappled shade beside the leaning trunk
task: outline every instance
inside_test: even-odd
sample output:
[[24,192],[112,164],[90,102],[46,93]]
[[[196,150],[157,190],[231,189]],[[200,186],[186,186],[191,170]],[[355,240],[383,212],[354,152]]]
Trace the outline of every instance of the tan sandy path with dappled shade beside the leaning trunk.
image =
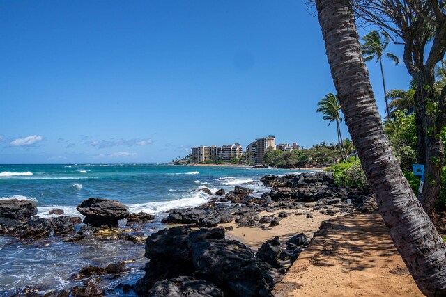
[[[277,285],[275,296],[423,296],[379,214],[328,223]],[[390,273],[394,269],[399,273]]]

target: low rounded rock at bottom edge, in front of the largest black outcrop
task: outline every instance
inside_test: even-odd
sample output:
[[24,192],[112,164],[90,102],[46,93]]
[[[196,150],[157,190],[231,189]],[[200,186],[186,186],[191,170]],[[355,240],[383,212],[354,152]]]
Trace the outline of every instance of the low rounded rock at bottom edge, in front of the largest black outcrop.
[[196,280],[189,276],[179,276],[162,280],[148,291],[148,297],[223,297],[223,292],[212,282]]

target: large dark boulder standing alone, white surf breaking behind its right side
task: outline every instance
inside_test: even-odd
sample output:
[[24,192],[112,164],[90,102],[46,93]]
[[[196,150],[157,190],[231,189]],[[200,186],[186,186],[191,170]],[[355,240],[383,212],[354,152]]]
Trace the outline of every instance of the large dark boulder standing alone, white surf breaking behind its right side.
[[84,223],[95,227],[118,227],[118,220],[127,218],[128,207],[116,200],[89,198],[76,207],[85,216]]

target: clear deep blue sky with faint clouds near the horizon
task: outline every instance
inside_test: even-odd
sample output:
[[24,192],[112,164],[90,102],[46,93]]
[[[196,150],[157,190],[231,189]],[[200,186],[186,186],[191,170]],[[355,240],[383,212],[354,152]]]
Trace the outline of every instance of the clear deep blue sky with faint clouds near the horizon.
[[[0,163],[161,163],[268,134],[336,141],[315,112],[334,86],[305,1],[14,0],[0,10]],[[383,113],[380,70],[368,67]],[[388,89],[408,87],[403,64],[384,67]]]

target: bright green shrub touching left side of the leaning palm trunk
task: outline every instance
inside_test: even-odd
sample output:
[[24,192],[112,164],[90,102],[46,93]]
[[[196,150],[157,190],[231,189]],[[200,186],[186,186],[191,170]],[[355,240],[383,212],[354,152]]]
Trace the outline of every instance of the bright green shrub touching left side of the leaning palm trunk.
[[352,188],[366,188],[367,179],[361,168],[361,162],[339,163],[330,168],[334,171],[334,184],[337,186],[350,186]]

